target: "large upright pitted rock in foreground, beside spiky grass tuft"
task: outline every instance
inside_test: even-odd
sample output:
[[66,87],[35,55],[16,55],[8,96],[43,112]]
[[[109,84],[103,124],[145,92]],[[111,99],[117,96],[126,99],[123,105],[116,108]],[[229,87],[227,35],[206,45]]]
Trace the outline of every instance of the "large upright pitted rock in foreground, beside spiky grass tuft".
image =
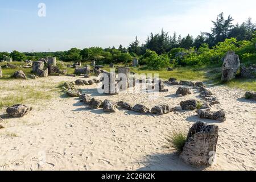
[[192,166],[210,166],[213,153],[216,152],[218,141],[218,126],[195,123],[189,130],[187,142],[180,158]]

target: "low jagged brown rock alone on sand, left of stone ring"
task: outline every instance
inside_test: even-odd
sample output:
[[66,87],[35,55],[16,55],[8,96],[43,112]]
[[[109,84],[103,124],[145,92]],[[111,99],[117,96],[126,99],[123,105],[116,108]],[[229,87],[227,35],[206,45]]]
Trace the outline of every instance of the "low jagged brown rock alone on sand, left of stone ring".
[[32,107],[17,104],[17,105],[13,105],[11,107],[8,107],[6,112],[11,117],[23,117],[24,115],[26,115],[31,110],[32,110]]

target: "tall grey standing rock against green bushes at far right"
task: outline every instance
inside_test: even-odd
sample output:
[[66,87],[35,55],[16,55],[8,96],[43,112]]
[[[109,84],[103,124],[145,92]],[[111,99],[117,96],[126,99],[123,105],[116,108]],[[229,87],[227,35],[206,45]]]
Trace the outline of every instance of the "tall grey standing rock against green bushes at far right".
[[237,71],[240,68],[240,59],[234,51],[226,53],[224,63],[222,65],[221,81],[230,81],[236,77]]

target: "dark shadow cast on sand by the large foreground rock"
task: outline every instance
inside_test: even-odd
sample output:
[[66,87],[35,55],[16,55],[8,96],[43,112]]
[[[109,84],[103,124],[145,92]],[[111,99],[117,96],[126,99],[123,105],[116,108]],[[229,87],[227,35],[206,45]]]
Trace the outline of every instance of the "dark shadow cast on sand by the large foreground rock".
[[205,169],[205,167],[195,168],[185,164],[176,153],[147,155],[140,163],[145,167],[137,171],[201,171]]

